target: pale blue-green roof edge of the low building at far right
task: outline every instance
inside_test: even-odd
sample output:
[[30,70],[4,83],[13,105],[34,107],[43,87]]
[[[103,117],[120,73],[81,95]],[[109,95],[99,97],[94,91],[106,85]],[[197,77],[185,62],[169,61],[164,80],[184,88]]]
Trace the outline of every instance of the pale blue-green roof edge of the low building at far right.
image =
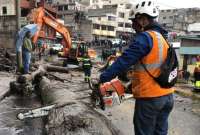
[[200,54],[200,47],[180,47],[180,54]]

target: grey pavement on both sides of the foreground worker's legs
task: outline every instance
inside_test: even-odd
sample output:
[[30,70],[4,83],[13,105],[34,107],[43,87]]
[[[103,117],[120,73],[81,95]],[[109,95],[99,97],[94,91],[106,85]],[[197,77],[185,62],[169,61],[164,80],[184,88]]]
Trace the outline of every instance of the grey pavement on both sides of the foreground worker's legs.
[[[175,95],[174,109],[169,118],[169,135],[199,135],[200,105],[199,101]],[[124,135],[133,135],[134,101],[129,100],[106,111],[106,116],[121,129]],[[194,113],[196,110],[196,113]],[[198,111],[197,111],[198,110]],[[102,112],[104,113],[104,112]]]

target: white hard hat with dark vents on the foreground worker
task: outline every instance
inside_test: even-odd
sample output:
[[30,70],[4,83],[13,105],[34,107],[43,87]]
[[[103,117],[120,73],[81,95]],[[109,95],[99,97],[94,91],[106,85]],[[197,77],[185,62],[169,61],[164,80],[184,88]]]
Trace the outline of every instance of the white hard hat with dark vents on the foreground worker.
[[151,0],[145,0],[136,4],[132,8],[129,19],[134,19],[137,14],[147,14],[152,18],[159,15],[158,7]]

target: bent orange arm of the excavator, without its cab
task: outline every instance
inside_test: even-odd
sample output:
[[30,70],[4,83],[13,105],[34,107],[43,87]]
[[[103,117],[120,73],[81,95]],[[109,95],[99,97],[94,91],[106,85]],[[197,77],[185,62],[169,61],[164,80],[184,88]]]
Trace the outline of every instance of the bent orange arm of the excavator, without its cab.
[[66,51],[65,53],[69,51],[71,48],[71,37],[69,31],[63,24],[59,23],[53,16],[51,16],[43,7],[40,7],[36,10],[34,14],[34,22],[38,25],[38,31],[33,37],[33,43],[36,43],[42,25],[46,24],[63,36],[65,41],[64,51]]

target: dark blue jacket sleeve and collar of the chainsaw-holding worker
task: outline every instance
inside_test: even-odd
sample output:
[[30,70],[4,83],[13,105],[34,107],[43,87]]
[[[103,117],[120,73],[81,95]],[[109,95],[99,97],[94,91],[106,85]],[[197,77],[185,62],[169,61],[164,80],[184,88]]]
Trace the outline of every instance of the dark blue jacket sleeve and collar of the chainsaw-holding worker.
[[[158,23],[154,23],[145,28],[145,30],[154,30],[166,37],[167,31]],[[108,82],[119,75],[121,72],[127,71],[132,65],[136,64],[140,59],[146,56],[153,46],[153,40],[147,32],[138,33],[130,43],[122,56],[120,56],[107,70],[100,75],[100,82]]]

